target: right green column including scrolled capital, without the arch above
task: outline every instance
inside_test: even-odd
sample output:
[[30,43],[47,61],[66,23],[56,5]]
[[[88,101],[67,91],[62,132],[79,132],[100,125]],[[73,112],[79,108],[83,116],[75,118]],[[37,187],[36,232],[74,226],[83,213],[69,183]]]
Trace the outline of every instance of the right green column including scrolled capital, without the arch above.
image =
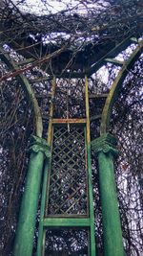
[[92,141],[92,149],[98,155],[104,256],[125,255],[113,171],[113,156],[117,154],[115,146],[116,139],[110,133]]

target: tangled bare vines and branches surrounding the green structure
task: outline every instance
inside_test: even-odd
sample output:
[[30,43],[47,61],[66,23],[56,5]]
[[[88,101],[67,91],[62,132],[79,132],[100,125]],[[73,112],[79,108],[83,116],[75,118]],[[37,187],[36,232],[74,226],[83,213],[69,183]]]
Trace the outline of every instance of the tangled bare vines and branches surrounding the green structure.
[[[53,2],[55,2],[53,4]],[[128,36],[142,36],[142,1],[140,0],[84,0],[84,1],[11,1],[0,0],[0,251],[11,255],[21,196],[24,191],[31,133],[35,131],[33,108],[15,77],[14,68],[4,61],[8,54],[18,65],[19,74],[31,82],[43,118],[43,137],[49,122],[51,76],[57,74],[58,93],[54,115],[71,117],[84,115],[84,79],[70,80],[76,71],[106,55],[112,47]],[[65,47],[55,58],[51,53]],[[130,46],[118,58],[132,53]],[[90,57],[90,58],[89,58]],[[42,59],[42,63],[40,60]],[[29,62],[28,62],[28,61]],[[36,61],[36,62],[35,62]],[[34,63],[34,66],[32,66]],[[85,64],[86,63],[86,64]],[[141,158],[141,90],[143,85],[142,56],[135,62],[120,90],[112,110],[111,132],[118,138],[119,157],[115,162],[115,177],[127,256],[141,256],[142,251],[142,158]],[[120,68],[106,64],[90,77],[91,135],[99,136],[101,112],[106,95]],[[66,73],[67,72],[67,73]],[[106,73],[106,78],[103,79]],[[10,74],[6,78],[6,74]],[[67,76],[68,79],[62,79]],[[67,91],[71,90],[67,97]],[[59,107],[60,105],[60,107]],[[92,154],[92,180],[95,208],[95,237],[98,254],[102,255],[102,214],[96,157]],[[38,216],[37,216],[38,222]],[[86,230],[48,231],[47,255],[84,255]],[[37,230],[35,231],[34,251]],[[33,251],[33,255],[34,255]],[[54,253],[53,253],[54,251]],[[63,254],[62,254],[63,253]],[[65,254],[64,254],[65,253]],[[59,254],[60,255],[60,252]]]

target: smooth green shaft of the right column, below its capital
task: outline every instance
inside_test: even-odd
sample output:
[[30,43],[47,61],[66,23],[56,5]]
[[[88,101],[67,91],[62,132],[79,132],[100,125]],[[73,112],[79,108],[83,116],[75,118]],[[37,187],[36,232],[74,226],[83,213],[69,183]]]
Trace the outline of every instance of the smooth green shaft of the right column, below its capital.
[[113,172],[112,153],[99,152],[104,255],[123,256],[122,232]]

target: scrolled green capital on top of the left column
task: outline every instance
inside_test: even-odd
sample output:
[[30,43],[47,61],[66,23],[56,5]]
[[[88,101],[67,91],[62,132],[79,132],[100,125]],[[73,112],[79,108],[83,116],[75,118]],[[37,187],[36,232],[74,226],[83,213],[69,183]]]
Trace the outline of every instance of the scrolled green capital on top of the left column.
[[47,158],[51,157],[51,147],[47,144],[47,141],[43,138],[32,135],[31,145],[29,152],[43,152]]

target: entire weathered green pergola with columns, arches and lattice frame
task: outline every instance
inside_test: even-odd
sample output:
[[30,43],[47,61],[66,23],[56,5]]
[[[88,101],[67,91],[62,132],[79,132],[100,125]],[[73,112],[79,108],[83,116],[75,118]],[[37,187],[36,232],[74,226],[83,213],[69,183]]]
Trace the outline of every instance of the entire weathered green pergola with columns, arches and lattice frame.
[[[131,45],[131,43],[135,43],[136,48],[130,58],[124,62],[116,60],[116,55],[125,50]],[[38,79],[37,81],[51,80],[52,82],[51,110],[47,141],[43,139],[42,115],[36,100],[36,96],[32,90],[31,81],[29,81],[28,78],[22,74],[22,72],[16,73],[16,71],[20,69],[18,63],[10,58],[10,55],[4,52],[2,48],[0,49],[2,60],[10,67],[12,73],[17,75],[17,79],[20,81],[23,89],[26,91],[29,97],[34,110],[36,127],[35,136],[33,136],[31,139],[31,157],[16,231],[14,256],[31,256],[32,254],[35,217],[37,213],[41,182],[43,182],[43,189],[41,198],[37,256],[42,256],[45,253],[46,230],[49,228],[63,227],[79,229],[86,228],[89,238],[87,253],[89,256],[95,256],[91,147],[97,154],[99,165],[104,254],[106,256],[124,255],[122,231],[113,174],[113,158],[118,153],[116,150],[117,142],[112,134],[109,133],[109,126],[112,107],[118,97],[122,83],[128,75],[129,70],[132,69],[136,59],[141,55],[142,49],[143,41],[130,36],[124,41],[120,42],[112,50],[107,52],[106,55],[92,63],[88,69],[85,68],[84,72],[74,71],[69,73],[68,71],[64,71],[62,75],[57,73],[54,74],[54,76],[51,75],[49,77]],[[91,143],[88,80],[92,74],[106,62],[119,65],[121,69],[113,81],[111,90],[106,98],[101,117],[100,137],[96,138]],[[34,59],[26,58],[24,64],[26,63],[34,63]],[[70,80],[77,78],[84,79],[83,87],[85,91],[85,98],[83,101],[85,101],[86,105],[86,115],[84,118],[72,119],[67,116],[63,119],[53,116],[56,80],[60,76]],[[70,125],[69,133],[67,133],[67,125]],[[84,151],[84,156],[81,156],[81,158],[83,157],[82,160],[77,156],[77,151],[74,151],[74,147],[72,147],[72,143],[74,142],[69,138],[70,136],[75,138],[75,148],[76,143],[80,143],[81,151]],[[64,146],[62,146],[60,138],[62,138],[62,141],[65,141]],[[73,156],[76,157],[73,158]],[[58,160],[57,157],[60,157],[60,159]],[[82,161],[82,163],[84,163],[82,172],[78,168],[78,161]],[[57,192],[59,195],[57,198],[54,198],[52,194],[52,186],[55,186],[59,180],[57,177],[55,177],[55,173],[57,172],[57,169],[60,168],[60,165],[62,165],[64,170],[62,175],[67,175],[68,170],[71,167],[71,171],[69,171],[71,173],[69,175],[72,185],[68,187],[67,198],[64,198],[63,201],[61,200],[62,194],[60,195],[60,190],[62,191],[62,184],[58,185]],[[75,180],[76,172],[74,172],[74,169],[79,173],[76,177],[77,181]],[[44,177],[42,179],[43,170]],[[81,177],[84,177],[84,181],[80,187],[80,189],[85,190],[86,197],[84,202],[82,201],[83,198],[79,196],[77,191],[77,183],[79,183]],[[77,201],[72,201],[72,194],[77,195]],[[69,204],[70,201],[72,201],[71,204]],[[79,207],[80,204],[82,207]]]

